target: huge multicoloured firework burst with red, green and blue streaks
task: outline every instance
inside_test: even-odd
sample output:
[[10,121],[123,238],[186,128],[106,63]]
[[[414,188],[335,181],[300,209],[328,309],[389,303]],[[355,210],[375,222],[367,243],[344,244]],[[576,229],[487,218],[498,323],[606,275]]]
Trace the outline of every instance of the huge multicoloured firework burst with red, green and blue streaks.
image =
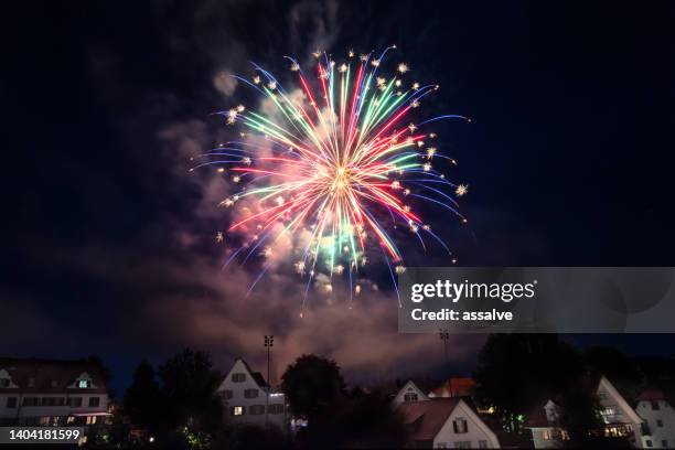
[[[411,111],[438,85],[404,81],[410,67],[403,62],[396,76],[379,75],[385,54],[394,47],[378,57],[350,51],[340,64],[315,52],[315,78],[287,57],[298,76],[293,90],[257,65],[251,81],[237,77],[264,96],[264,111],[239,105],[218,113],[246,131],[239,133],[242,140],[221,144],[193,168],[222,164],[218,172],[245,184],[221,203],[237,210],[227,234],[245,236],[227,264],[254,254],[270,258],[278,246],[290,245],[296,271],[308,277],[308,289],[319,274],[330,279],[346,272],[350,291],[358,294],[362,288],[352,287],[352,274],[374,248],[382,250],[394,286],[394,274],[405,270],[390,236],[393,224],[409,228],[422,246],[421,235],[427,234],[449,253],[415,203],[435,204],[467,222],[456,199],[468,189],[435,170],[435,159],[456,161],[428,144],[436,135],[425,126],[442,118],[470,120],[447,115],[413,121]],[[221,232],[216,240],[223,240]],[[270,265],[264,265],[251,289]],[[330,281],[323,288],[332,291]]]

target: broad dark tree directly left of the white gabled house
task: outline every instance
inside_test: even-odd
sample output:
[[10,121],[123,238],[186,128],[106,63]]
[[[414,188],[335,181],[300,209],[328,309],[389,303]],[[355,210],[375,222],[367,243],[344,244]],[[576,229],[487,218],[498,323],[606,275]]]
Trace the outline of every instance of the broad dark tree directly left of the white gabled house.
[[221,376],[211,355],[185,349],[160,366],[163,415],[170,428],[189,427],[192,432],[218,430],[223,420],[215,396]]

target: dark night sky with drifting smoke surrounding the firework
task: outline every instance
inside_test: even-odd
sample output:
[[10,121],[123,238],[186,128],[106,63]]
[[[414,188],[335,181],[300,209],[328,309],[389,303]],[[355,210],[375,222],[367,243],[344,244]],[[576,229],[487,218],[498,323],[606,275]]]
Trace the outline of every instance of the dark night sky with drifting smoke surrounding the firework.
[[[4,12],[0,354],[100,354],[121,389],[143,356],[185,345],[254,365],[278,336],[279,371],[302,352],[351,379],[467,373],[483,338],[396,334],[390,290],[358,313],[312,302],[271,275],[221,271],[227,186],[188,172],[226,130],[211,113],[255,101],[255,61],[344,55],[393,43],[393,63],[440,84],[428,108],[469,184],[460,265],[674,266],[674,53],[667,2],[21,2]],[[283,75],[287,76],[287,75]],[[255,104],[254,104],[255,106]],[[431,113],[430,113],[431,114]],[[4,196],[4,195],[3,195]],[[436,225],[438,228],[443,223]],[[448,265],[413,251],[411,264]],[[416,253],[417,251],[417,253]],[[570,336],[672,355],[672,335]],[[435,349],[429,352],[429,349]],[[431,354],[431,355],[430,355]]]

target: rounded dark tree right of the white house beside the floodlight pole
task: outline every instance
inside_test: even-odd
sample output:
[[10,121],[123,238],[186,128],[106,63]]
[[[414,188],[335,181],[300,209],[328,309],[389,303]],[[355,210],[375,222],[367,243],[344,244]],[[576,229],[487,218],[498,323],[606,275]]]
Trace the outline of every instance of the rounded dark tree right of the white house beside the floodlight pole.
[[338,364],[315,355],[300,356],[281,376],[281,390],[291,413],[307,417],[310,426],[334,411],[344,388]]

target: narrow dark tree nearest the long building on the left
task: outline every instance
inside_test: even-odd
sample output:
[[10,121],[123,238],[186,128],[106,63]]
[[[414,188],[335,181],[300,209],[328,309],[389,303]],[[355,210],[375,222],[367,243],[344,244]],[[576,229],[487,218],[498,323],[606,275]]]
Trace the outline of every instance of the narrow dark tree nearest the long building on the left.
[[133,371],[133,382],[124,399],[124,411],[133,425],[158,431],[162,398],[154,368],[143,360]]

